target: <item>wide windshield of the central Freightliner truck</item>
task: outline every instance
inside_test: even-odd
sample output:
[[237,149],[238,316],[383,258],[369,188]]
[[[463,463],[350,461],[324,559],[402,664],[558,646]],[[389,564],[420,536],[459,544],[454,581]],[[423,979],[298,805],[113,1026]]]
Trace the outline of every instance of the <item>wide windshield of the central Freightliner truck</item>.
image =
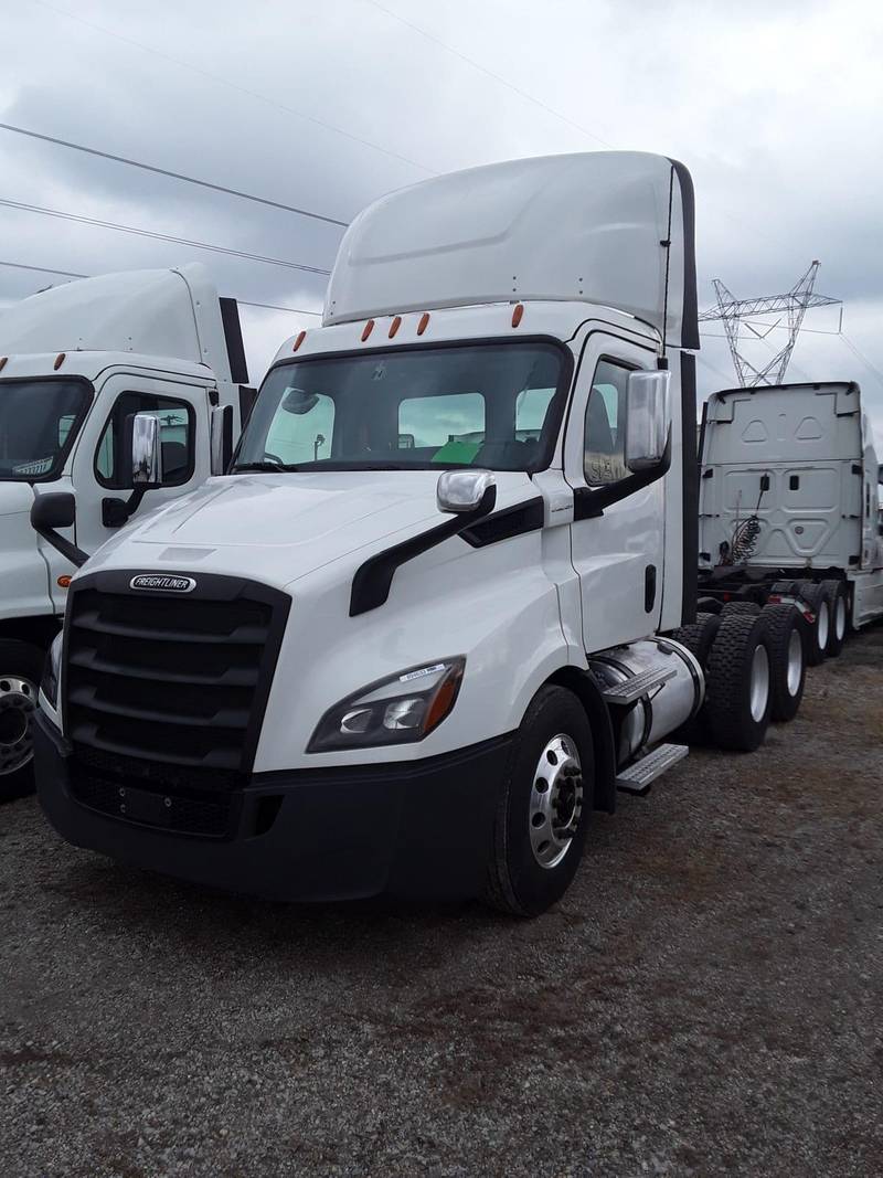
[[563,355],[525,340],[281,364],[232,469],[540,469],[566,397]]

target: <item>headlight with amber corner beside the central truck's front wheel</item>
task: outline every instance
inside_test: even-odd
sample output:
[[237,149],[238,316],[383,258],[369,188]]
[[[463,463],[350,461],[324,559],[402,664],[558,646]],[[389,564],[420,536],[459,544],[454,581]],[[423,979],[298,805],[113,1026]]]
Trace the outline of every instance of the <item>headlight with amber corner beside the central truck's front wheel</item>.
[[438,728],[457,700],[465,659],[442,659],[380,680],[321,717],[307,753],[405,744]]

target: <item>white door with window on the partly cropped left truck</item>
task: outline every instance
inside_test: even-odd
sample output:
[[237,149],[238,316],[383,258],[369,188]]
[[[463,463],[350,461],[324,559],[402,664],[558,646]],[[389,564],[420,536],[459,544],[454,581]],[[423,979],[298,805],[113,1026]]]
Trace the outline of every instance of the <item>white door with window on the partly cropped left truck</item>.
[[126,418],[140,412],[153,412],[159,418],[165,482],[147,491],[139,515],[185,495],[208,477],[207,389],[126,373],[108,377],[98,392],[73,463],[77,543],[86,552],[94,552],[118,530],[107,522],[104,501],[125,503],[132,495],[132,472],[125,469],[124,430]]

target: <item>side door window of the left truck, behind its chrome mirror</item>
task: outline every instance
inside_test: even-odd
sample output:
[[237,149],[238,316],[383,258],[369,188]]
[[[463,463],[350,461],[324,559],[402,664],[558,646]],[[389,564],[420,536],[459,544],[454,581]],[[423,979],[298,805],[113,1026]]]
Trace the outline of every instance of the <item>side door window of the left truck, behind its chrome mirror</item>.
[[124,430],[132,413],[155,413],[162,444],[162,482],[181,487],[193,476],[194,416],[186,401],[154,397],[148,392],[122,392],[117,398],[95,451],[95,475],[102,487],[125,490],[132,471],[124,470]]

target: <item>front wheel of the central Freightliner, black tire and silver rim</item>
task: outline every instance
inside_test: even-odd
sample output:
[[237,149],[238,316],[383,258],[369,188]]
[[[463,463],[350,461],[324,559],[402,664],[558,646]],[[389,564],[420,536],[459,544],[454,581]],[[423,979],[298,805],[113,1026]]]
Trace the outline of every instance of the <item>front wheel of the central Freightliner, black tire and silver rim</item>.
[[566,688],[540,688],[506,767],[485,902],[536,916],[564,895],[583,856],[593,788],[585,709]]

